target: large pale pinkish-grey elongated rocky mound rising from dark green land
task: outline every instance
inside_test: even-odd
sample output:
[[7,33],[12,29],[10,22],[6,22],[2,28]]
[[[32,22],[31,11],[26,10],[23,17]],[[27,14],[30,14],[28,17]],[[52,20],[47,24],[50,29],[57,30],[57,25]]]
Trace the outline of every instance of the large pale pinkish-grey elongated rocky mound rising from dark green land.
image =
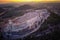
[[10,39],[26,37],[37,31],[49,15],[47,9],[27,12],[22,16],[9,20],[3,29],[5,32],[3,35],[5,38],[9,36]]

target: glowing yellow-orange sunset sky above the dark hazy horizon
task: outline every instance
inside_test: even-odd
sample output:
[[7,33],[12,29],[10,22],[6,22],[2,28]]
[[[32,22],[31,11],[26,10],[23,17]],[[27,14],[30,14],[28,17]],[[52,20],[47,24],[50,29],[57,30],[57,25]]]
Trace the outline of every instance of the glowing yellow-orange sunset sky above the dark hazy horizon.
[[0,3],[19,3],[19,2],[60,2],[60,0],[0,0]]

